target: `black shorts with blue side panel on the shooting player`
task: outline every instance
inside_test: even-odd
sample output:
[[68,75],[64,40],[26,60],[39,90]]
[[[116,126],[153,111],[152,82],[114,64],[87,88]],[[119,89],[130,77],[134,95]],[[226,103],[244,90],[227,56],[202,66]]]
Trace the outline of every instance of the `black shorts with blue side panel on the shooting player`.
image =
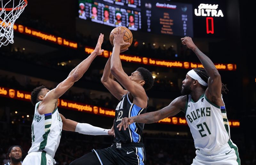
[[146,152],[143,143],[131,143],[92,151],[97,155],[103,165],[144,165],[146,164]]

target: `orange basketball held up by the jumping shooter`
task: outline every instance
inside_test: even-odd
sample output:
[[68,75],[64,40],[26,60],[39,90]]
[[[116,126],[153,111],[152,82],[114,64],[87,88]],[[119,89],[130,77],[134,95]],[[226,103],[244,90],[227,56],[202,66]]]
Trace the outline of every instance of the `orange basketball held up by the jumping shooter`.
[[[116,27],[116,28],[120,28],[120,27]],[[113,40],[114,40],[114,35],[113,35],[113,33],[116,34],[116,28],[114,28],[114,29],[111,31],[110,35],[109,35],[109,41],[110,41],[110,43],[111,43],[112,46],[114,46],[114,44],[113,44]],[[124,34],[124,42],[130,43],[130,45],[121,46],[120,50],[124,50],[124,49],[129,48],[129,46],[131,46],[133,37],[132,37],[132,32],[131,32],[130,29],[121,26],[121,30],[122,30],[122,33],[123,33],[124,30],[126,30],[126,32],[125,32],[125,34]]]

